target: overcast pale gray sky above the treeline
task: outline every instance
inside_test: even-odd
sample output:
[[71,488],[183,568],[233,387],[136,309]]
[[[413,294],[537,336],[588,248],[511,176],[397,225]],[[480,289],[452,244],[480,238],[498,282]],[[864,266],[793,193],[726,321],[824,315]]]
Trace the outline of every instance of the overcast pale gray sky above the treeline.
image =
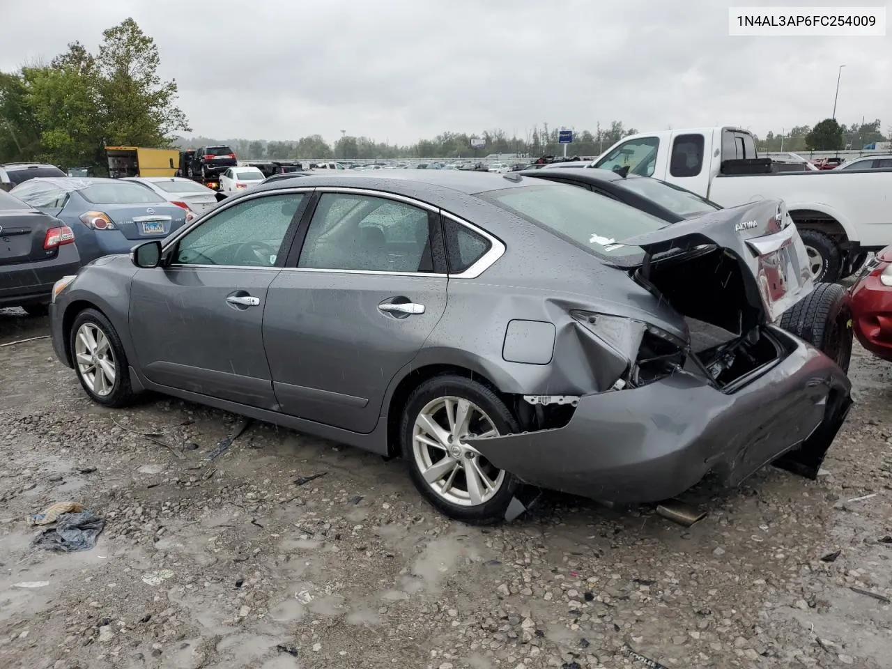
[[[4,0],[10,2],[10,0]],[[764,135],[827,118],[892,126],[892,37],[729,37],[719,0],[38,0],[0,21],[0,70],[128,16],[154,37],[195,135],[409,144],[443,130],[623,120]],[[755,2],[737,2],[757,4]],[[821,4],[786,0],[761,4]],[[830,4],[830,3],[823,3]],[[836,5],[886,6],[892,2]],[[889,35],[889,34],[888,34]]]

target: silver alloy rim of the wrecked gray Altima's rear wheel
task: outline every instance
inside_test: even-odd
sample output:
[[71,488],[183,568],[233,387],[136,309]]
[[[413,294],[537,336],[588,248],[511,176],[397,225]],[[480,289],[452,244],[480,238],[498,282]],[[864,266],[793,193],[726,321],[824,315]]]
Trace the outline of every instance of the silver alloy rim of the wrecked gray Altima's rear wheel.
[[429,401],[412,428],[412,454],[427,485],[443,500],[475,507],[491,500],[505,481],[469,437],[498,436],[491,418],[474,402],[445,396]]

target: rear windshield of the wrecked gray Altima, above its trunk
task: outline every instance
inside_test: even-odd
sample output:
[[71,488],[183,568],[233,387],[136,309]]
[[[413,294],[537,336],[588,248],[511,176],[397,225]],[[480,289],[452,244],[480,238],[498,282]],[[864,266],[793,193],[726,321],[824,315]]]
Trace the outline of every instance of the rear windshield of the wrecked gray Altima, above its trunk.
[[505,188],[477,197],[606,258],[640,255],[638,246],[624,246],[617,241],[668,225],[623,202],[577,186]]

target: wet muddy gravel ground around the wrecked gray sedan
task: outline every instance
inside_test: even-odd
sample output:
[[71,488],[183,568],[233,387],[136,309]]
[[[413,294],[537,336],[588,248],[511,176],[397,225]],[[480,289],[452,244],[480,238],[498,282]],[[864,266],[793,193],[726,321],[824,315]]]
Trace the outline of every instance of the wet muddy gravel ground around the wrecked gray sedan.
[[[46,332],[0,311],[0,344]],[[554,494],[482,529],[399,460],[256,422],[210,460],[238,417],[102,409],[48,340],[0,348],[0,666],[888,667],[892,366],[852,376],[816,482],[701,486],[690,529]],[[107,520],[95,549],[29,548],[65,500]]]

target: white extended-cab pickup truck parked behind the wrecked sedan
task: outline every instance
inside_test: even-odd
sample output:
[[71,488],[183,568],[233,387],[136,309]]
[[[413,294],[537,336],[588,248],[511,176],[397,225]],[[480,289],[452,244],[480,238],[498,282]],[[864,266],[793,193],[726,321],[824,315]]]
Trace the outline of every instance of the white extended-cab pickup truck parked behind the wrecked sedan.
[[867,252],[892,244],[892,169],[782,171],[758,158],[753,136],[740,128],[627,136],[590,167],[663,179],[723,207],[783,200],[816,281],[847,277]]

